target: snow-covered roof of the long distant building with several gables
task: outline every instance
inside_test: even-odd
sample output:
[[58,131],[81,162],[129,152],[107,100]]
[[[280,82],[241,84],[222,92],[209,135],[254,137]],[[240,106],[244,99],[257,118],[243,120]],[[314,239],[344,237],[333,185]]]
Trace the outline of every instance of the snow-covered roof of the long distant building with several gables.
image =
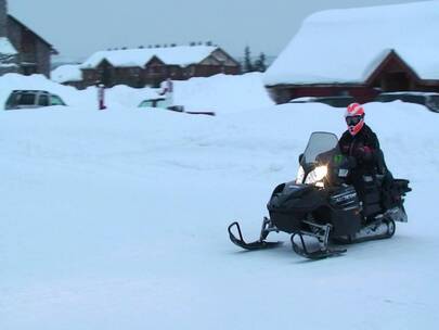
[[178,46],[168,48],[99,51],[83,62],[81,67],[94,68],[103,60],[119,67],[143,67],[154,56],[169,65],[188,66],[202,62],[217,49],[218,47],[212,46]]

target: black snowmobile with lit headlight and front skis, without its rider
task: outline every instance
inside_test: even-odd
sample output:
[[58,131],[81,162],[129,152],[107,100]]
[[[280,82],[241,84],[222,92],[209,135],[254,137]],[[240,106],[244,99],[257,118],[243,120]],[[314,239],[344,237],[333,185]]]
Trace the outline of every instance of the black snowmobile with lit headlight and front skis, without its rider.
[[321,259],[344,254],[347,250],[340,245],[391,238],[396,221],[408,221],[403,203],[411,191],[409,180],[386,182],[384,174],[363,175],[356,190],[349,182],[356,162],[341,154],[334,134],[313,132],[299,164],[296,180],[279,185],[271,194],[270,217],[263,218],[259,240],[244,241],[235,221],[228,228],[234,244],[245,250],[275,248],[282,242],[266,239],[283,231],[290,234],[297,254]]

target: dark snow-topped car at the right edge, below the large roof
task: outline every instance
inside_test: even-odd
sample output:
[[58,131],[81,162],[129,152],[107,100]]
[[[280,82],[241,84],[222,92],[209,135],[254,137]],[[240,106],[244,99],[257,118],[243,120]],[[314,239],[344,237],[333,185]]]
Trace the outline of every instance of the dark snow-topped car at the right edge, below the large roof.
[[375,102],[402,101],[408,103],[416,103],[425,105],[430,111],[439,112],[439,93],[435,92],[418,92],[418,91],[385,92],[378,94],[374,101]]

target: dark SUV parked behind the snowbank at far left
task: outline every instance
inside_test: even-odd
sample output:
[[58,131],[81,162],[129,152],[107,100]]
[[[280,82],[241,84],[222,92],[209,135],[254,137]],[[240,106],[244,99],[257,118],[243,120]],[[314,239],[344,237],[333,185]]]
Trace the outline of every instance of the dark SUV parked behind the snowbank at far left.
[[59,96],[46,90],[13,90],[7,100],[4,109],[34,109],[51,105],[66,104]]

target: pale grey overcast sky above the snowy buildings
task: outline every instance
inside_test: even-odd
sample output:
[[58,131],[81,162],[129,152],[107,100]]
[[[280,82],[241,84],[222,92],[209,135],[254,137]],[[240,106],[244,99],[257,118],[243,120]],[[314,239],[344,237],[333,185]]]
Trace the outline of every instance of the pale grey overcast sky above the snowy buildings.
[[276,55],[309,14],[416,0],[8,0],[12,15],[66,58],[115,47],[208,41]]

